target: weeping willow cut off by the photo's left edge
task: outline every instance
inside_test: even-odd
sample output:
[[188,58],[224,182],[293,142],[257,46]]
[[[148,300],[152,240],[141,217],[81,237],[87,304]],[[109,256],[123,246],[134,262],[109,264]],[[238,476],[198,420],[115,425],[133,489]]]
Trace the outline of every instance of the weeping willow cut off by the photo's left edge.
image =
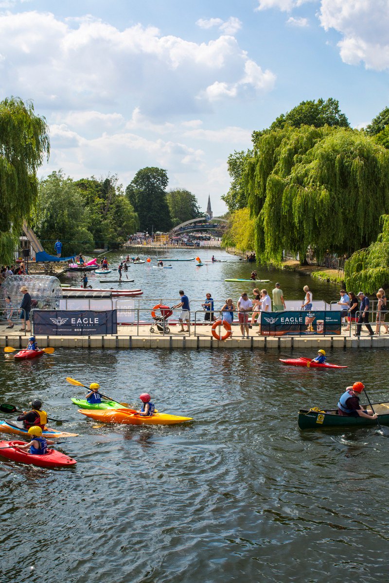
[[38,197],[37,169],[50,152],[48,127],[31,101],[18,97],[0,102],[0,257],[12,261],[23,220],[29,220]]

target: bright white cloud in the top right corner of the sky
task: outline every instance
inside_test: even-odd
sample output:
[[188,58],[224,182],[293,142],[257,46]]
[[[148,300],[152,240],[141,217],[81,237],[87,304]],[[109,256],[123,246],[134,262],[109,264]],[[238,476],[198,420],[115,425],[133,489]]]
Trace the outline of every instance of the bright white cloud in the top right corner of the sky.
[[321,0],[320,22],[343,38],[338,43],[342,61],[364,62],[367,69],[389,67],[389,3],[387,0]]

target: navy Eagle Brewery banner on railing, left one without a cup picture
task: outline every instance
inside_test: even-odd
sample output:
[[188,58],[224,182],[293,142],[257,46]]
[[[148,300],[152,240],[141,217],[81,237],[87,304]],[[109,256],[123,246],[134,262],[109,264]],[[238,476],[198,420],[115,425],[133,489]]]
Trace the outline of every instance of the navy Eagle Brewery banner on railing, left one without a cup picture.
[[117,333],[116,310],[33,310],[35,335],[104,336]]

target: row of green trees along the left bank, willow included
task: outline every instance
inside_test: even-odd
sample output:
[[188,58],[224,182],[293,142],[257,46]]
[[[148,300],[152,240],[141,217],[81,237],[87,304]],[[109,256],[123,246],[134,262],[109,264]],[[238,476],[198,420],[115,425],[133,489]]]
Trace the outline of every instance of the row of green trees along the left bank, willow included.
[[33,103],[0,101],[0,257],[12,262],[23,221],[52,253],[60,238],[64,255],[110,245],[117,248],[136,231],[166,232],[203,216],[185,188],[167,191],[163,168],[142,168],[123,188],[117,175],[65,177],[61,170],[42,180],[37,170],[50,154],[49,128]]

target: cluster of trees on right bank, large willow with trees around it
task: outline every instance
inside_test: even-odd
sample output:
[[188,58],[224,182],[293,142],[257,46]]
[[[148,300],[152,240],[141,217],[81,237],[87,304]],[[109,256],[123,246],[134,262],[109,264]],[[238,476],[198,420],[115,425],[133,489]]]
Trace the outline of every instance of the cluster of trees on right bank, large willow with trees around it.
[[[381,241],[380,268],[386,265],[389,276],[386,231],[380,234],[389,212],[388,107],[359,130],[350,127],[337,100],[303,101],[254,131],[252,142],[227,161],[232,180],[222,196],[230,212],[225,245],[255,249],[261,262],[279,264],[285,250],[299,254],[300,262],[309,247],[317,259],[327,250],[351,258]],[[376,257],[372,251],[363,256],[366,269]],[[346,278],[351,271],[356,285],[360,262],[346,266]],[[383,277],[381,271],[381,285],[389,283]]]

